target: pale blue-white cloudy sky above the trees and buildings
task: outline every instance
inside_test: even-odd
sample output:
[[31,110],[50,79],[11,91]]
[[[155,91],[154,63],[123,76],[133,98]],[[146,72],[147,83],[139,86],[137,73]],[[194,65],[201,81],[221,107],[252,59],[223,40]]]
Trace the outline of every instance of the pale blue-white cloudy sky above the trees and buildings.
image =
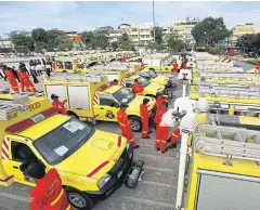
[[[0,2],[0,35],[37,27],[62,30],[93,30],[101,26],[152,22],[152,2]],[[156,1],[155,21],[171,26],[186,16],[224,18],[229,29],[253,23],[260,30],[260,2]]]

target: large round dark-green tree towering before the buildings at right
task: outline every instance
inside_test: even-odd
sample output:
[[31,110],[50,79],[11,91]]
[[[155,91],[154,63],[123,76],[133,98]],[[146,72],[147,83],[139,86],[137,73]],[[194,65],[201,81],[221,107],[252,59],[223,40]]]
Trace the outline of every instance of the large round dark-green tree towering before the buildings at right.
[[206,17],[192,29],[192,36],[197,44],[214,45],[230,36],[222,17]]

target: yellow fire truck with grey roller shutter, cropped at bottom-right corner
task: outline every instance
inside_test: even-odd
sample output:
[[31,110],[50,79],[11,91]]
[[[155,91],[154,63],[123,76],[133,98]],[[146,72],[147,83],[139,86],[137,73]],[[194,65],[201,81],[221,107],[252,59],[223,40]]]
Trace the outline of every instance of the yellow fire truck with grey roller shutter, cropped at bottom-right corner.
[[259,140],[259,131],[198,126],[190,157],[180,161],[177,209],[258,210]]

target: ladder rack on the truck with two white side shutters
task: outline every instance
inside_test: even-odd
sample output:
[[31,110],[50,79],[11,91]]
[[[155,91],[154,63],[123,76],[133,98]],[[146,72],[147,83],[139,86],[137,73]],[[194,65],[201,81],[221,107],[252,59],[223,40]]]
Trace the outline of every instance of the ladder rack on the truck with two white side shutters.
[[81,81],[81,82],[101,82],[105,80],[107,77],[103,74],[86,74],[81,75],[72,75],[72,74],[57,74],[50,79],[44,78],[44,80],[49,81]]

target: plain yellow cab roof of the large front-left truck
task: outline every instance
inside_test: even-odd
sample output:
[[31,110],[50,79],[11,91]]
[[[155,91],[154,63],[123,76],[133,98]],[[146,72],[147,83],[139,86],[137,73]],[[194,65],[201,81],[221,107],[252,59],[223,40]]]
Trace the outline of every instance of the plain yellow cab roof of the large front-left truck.
[[54,115],[49,117],[26,130],[21,131],[20,135],[30,137],[31,140],[37,140],[42,135],[49,133],[51,130],[66,122],[70,117],[65,115]]

